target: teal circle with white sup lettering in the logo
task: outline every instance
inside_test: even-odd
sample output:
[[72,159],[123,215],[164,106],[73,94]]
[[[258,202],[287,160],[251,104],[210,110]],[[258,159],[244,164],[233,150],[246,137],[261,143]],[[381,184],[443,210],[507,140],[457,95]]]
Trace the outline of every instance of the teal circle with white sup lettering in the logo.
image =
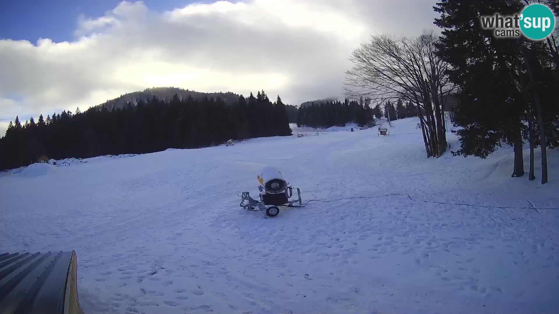
[[555,16],[548,7],[534,3],[522,10],[520,30],[532,40],[541,40],[549,36],[555,27]]

